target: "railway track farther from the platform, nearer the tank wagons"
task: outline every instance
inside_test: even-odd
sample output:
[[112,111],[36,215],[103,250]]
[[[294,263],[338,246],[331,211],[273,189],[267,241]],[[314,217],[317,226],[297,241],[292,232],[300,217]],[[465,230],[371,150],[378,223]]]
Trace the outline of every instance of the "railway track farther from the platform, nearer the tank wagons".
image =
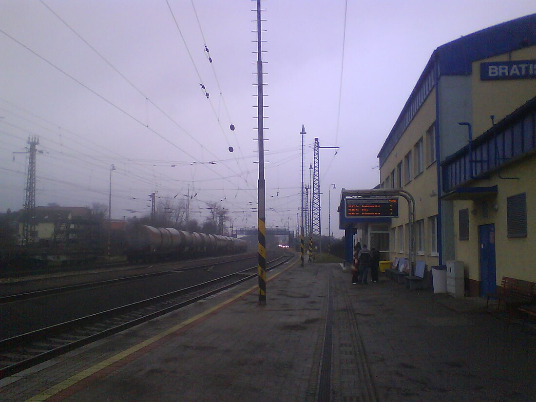
[[[222,265],[222,264],[229,264],[234,262],[239,262],[243,260],[248,260],[252,258],[256,258],[257,255],[254,256],[242,256],[241,258],[235,258],[235,259],[224,259],[220,260],[219,262],[206,262],[200,265],[192,265],[192,266],[184,266],[180,268],[174,268],[170,270],[165,271],[158,271],[158,272],[150,272],[150,273],[144,273],[144,274],[138,274],[138,275],[131,275],[128,277],[122,277],[122,278],[114,278],[114,279],[107,279],[107,280],[101,280],[101,281],[92,281],[92,282],[84,282],[82,284],[75,284],[75,285],[68,285],[68,286],[61,286],[61,287],[55,287],[55,288],[47,288],[47,289],[40,289],[38,291],[32,291],[32,292],[24,292],[24,293],[16,293],[11,295],[5,295],[0,296],[0,304],[3,303],[11,303],[14,301],[21,301],[21,300],[28,300],[28,299],[34,299],[35,297],[41,297],[41,296],[47,296],[51,294],[61,294],[65,292],[72,292],[80,289],[89,289],[89,288],[95,288],[100,286],[107,286],[107,285],[113,285],[117,284],[119,282],[129,282],[134,280],[140,280],[140,279],[147,279],[152,277],[158,277],[163,275],[169,275],[174,272],[179,271],[189,271],[189,270],[196,270],[196,269],[202,269],[204,267],[210,267],[210,266],[216,266],[216,265]],[[159,264],[159,265],[166,265],[166,264]],[[139,267],[138,267],[139,268]]]

